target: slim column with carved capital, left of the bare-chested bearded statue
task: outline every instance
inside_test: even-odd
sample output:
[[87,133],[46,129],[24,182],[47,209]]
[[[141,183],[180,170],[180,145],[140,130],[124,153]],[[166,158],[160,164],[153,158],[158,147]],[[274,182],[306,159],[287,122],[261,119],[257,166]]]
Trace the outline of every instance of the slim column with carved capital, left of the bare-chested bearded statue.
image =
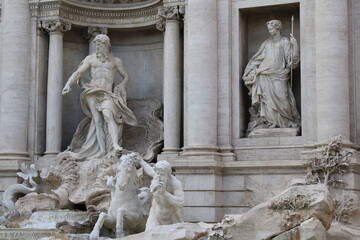
[[71,29],[71,25],[61,20],[53,20],[43,22],[42,27],[50,35],[45,154],[52,156],[61,151],[63,34]]

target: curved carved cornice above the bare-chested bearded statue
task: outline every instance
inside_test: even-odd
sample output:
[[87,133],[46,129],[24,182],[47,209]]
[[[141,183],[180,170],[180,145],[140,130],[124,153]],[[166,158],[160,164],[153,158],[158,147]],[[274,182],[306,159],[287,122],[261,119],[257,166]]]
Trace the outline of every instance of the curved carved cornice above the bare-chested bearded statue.
[[[146,4],[145,4],[146,3]],[[155,25],[160,19],[162,0],[144,2],[136,7],[94,7],[74,0],[30,0],[31,17],[37,20],[62,19],[86,27],[131,28]]]

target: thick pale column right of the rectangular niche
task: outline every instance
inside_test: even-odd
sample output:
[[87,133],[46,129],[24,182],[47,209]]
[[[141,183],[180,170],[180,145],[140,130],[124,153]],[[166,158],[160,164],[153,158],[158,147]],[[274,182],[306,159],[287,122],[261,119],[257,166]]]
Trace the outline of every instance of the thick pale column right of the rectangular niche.
[[[315,1],[317,134],[350,138],[347,1]],[[334,24],[335,23],[335,24]]]

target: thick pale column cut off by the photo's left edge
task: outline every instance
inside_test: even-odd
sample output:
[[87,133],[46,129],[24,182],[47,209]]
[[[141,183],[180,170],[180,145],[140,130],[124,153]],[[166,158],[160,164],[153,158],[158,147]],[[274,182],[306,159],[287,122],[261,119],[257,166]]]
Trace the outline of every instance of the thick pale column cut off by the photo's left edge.
[[[4,0],[2,11],[0,169],[16,172],[21,161],[29,160],[27,149],[30,81],[29,1]],[[10,162],[6,163],[7,160]],[[2,164],[4,166],[1,166]]]

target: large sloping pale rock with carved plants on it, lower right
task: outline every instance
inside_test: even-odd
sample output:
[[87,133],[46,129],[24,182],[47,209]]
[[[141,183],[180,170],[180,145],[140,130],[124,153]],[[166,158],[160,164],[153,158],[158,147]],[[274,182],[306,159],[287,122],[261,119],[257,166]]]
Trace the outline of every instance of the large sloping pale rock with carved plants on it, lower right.
[[292,186],[241,216],[226,216],[224,232],[237,240],[268,239],[313,217],[329,229],[334,209],[335,201],[326,186]]

